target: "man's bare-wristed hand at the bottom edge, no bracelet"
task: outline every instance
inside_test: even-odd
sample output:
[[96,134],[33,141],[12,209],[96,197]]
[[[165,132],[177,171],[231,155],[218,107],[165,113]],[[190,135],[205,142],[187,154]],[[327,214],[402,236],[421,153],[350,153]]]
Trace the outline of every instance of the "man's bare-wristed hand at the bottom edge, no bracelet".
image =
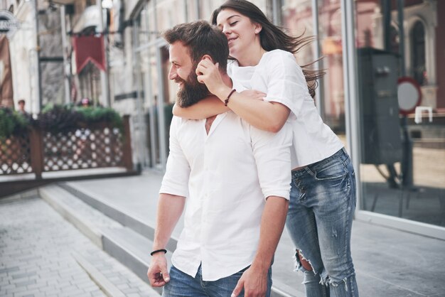
[[236,297],[240,295],[242,288],[244,288],[245,297],[264,297],[267,292],[267,279],[268,270],[255,269],[254,266],[250,266],[238,281],[237,286],[232,292],[230,297]]

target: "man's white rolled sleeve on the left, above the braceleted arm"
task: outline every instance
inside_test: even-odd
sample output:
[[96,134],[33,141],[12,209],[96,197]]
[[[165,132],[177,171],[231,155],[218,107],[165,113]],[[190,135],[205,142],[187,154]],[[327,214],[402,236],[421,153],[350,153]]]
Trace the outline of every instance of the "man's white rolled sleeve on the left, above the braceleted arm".
[[173,117],[170,125],[170,152],[168,153],[166,173],[163,175],[159,193],[188,197],[188,179],[191,168],[178,141],[178,117]]

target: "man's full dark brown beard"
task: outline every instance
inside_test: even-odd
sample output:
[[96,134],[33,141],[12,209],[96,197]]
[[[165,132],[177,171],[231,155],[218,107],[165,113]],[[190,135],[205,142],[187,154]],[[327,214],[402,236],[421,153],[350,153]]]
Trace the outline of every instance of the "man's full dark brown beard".
[[209,95],[208,88],[198,82],[198,77],[194,71],[188,75],[187,80],[176,77],[175,82],[182,82],[182,87],[178,91],[178,105],[180,107],[189,107]]

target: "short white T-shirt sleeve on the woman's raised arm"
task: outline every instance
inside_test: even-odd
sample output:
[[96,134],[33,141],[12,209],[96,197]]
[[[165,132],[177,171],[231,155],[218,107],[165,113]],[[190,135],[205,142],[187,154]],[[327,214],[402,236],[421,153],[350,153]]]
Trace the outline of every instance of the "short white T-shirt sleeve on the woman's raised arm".
[[310,97],[303,70],[294,55],[284,50],[271,53],[266,63],[267,101],[279,102],[298,117],[301,105]]

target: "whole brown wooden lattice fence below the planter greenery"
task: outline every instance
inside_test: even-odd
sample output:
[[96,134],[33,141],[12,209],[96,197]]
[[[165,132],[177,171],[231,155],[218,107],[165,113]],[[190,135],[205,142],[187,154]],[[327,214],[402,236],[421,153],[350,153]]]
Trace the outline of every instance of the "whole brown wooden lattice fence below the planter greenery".
[[90,124],[65,133],[33,128],[21,136],[0,139],[0,175],[124,167],[133,171],[129,117],[124,133],[107,124]]

